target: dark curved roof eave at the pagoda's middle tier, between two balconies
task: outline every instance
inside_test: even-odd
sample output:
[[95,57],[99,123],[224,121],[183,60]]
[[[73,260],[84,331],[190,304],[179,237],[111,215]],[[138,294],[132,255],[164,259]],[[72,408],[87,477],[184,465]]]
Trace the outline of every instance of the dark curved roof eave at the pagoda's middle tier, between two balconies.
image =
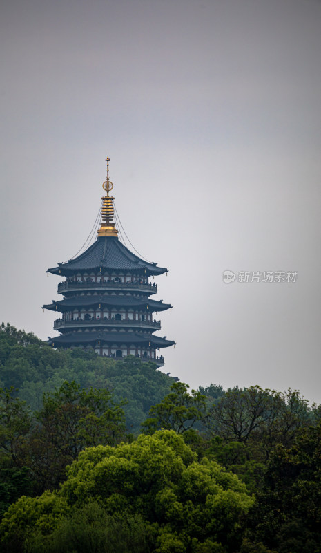
[[172,307],[171,303],[162,303],[161,301],[155,301],[153,299],[150,301],[136,300],[133,296],[110,297],[109,300],[101,296],[77,296],[61,299],[60,301],[52,301],[52,303],[43,305],[42,308],[64,313],[75,308],[97,308],[99,305],[101,309],[138,308],[150,312],[166,311]]

